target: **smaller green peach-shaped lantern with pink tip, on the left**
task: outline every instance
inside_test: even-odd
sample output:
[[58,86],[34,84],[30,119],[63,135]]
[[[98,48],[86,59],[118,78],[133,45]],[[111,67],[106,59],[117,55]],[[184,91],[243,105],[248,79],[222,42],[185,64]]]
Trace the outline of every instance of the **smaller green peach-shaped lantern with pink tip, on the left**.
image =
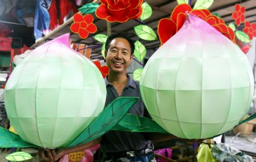
[[104,109],[106,87],[97,67],[69,45],[69,34],[34,49],[5,87],[7,115],[29,143],[71,143]]

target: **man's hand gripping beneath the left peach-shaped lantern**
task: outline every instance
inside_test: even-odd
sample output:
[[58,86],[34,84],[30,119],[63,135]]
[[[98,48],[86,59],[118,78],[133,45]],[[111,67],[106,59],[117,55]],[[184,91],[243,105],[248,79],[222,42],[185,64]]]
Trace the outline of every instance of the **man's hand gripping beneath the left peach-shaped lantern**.
[[40,157],[45,161],[54,162],[59,160],[62,156],[64,156],[63,151],[55,151],[55,149],[42,149],[38,150]]

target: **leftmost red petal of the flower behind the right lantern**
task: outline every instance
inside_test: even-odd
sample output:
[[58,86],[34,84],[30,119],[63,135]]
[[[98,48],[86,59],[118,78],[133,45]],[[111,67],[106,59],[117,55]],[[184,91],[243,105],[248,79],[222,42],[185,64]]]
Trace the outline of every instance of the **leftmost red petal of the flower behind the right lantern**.
[[171,19],[160,19],[158,23],[158,35],[161,44],[176,34],[176,24]]

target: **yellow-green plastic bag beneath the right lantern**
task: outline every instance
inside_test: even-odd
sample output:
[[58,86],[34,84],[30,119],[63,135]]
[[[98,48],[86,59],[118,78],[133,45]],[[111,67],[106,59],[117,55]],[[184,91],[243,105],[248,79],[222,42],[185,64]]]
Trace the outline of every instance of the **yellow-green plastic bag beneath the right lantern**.
[[[212,148],[213,145],[210,145],[210,148]],[[198,153],[196,155],[197,161],[198,162],[217,162],[213,155],[212,152],[210,152],[210,148],[208,146],[208,144],[200,144],[199,149],[198,149]]]

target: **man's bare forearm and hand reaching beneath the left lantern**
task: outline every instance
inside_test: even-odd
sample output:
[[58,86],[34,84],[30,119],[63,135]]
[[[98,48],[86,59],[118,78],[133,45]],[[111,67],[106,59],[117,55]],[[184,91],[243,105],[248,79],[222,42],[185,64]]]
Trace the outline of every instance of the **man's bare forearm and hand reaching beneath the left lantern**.
[[72,152],[77,152],[77,151],[83,151],[85,149],[91,148],[94,145],[98,144],[101,142],[101,137],[92,140],[91,142],[85,143],[85,144],[80,144],[78,146],[66,148],[66,149],[59,149],[57,152],[55,149],[39,149],[39,155],[43,160],[46,161],[57,161],[59,160],[62,156],[67,155],[68,153]]

